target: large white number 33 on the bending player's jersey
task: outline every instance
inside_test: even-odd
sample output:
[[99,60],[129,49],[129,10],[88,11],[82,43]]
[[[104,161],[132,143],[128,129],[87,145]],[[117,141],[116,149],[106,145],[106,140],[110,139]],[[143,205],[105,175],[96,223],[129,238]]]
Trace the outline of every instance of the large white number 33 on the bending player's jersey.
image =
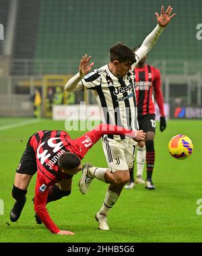
[[[54,140],[57,139],[61,139],[60,137],[53,137],[48,139],[47,144],[50,148],[53,148],[53,152],[56,153],[59,150],[61,150],[61,148],[63,148],[63,141],[60,141],[59,143],[53,143]],[[36,152],[37,152],[37,158],[40,160],[41,164],[44,164],[44,162],[46,161],[46,159],[50,156],[50,154],[48,152],[48,150],[44,150],[42,153],[40,153],[40,148],[44,145],[45,142],[40,143],[39,147],[37,148]]]

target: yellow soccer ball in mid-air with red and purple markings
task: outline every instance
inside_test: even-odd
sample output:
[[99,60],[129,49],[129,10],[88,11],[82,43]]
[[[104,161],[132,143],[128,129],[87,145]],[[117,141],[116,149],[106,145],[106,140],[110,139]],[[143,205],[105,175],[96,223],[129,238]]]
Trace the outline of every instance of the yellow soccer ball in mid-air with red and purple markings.
[[176,135],[170,139],[168,150],[172,157],[182,160],[193,153],[193,143],[186,135]]

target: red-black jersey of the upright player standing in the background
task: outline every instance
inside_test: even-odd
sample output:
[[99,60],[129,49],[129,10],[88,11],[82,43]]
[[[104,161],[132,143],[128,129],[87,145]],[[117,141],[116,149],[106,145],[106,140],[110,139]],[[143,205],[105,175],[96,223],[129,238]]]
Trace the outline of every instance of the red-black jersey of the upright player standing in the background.
[[161,91],[160,71],[156,67],[145,65],[143,68],[135,67],[134,73],[138,116],[155,114],[153,93],[160,108],[160,114],[164,116],[164,99]]

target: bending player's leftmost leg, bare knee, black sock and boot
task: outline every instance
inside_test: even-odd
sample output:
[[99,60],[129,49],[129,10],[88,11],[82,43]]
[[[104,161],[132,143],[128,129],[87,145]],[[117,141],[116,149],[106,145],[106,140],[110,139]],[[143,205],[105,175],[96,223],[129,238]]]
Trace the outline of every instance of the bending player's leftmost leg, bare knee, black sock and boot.
[[11,222],[16,222],[20,218],[22,209],[26,203],[27,188],[33,175],[15,173],[15,181],[13,185],[12,195],[15,203],[10,212]]

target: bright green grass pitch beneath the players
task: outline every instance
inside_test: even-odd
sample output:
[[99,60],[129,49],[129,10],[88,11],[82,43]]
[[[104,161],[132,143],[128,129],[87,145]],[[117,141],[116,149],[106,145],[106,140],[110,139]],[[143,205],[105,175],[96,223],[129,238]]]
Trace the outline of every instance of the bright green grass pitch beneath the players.
[[[65,129],[63,121],[52,120],[1,129],[24,120],[0,119],[0,199],[4,202],[4,211],[1,209],[0,215],[0,242],[202,242],[202,215],[197,215],[197,199],[202,198],[201,121],[168,121],[163,133],[159,132],[157,123],[156,190],[147,191],[143,185],[131,190],[123,189],[108,214],[109,231],[98,230],[94,219],[108,185],[94,180],[88,194],[81,195],[77,186],[81,173],[75,175],[71,195],[47,205],[59,228],[75,232],[75,236],[57,236],[43,224],[35,224],[32,197],[36,175],[28,187],[27,202],[20,219],[16,223],[9,220],[14,202],[11,189],[15,168],[28,138],[40,129]],[[83,133],[69,132],[72,138]],[[186,160],[176,160],[168,153],[168,141],[176,134],[188,135],[193,140],[193,155]],[[106,166],[100,141],[88,152],[84,162]]]

